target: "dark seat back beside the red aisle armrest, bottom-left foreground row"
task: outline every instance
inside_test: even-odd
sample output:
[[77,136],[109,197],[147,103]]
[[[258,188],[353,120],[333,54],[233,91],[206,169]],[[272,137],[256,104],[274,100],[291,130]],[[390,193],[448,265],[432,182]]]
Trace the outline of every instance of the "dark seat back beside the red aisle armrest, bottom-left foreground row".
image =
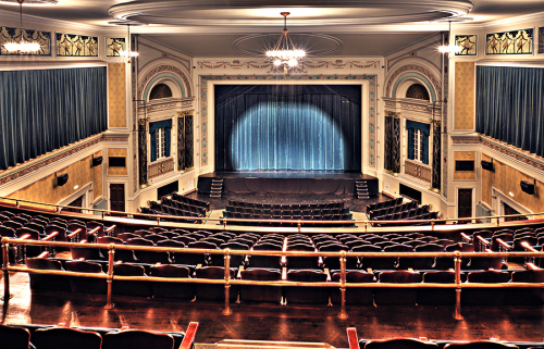
[[102,349],[173,349],[174,337],[148,331],[110,332],[103,336]]

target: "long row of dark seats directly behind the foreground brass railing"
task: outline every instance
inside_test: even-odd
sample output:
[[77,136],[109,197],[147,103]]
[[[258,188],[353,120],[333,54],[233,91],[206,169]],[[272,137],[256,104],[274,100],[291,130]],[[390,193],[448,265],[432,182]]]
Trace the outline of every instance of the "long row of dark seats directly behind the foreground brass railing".
[[[88,261],[61,261],[34,258],[27,259],[27,265],[40,270],[66,270],[70,272],[102,273],[102,266]],[[238,273],[239,271],[239,273]],[[143,265],[115,263],[114,276],[156,276],[181,278],[223,279],[223,266],[197,266],[191,270],[183,265],[150,265],[149,272]],[[277,269],[237,269],[231,267],[231,278],[261,282],[296,282],[296,283],[326,283],[339,282],[341,273],[332,274],[321,270],[289,270],[285,278]],[[527,271],[474,271],[463,273],[463,283],[543,283],[544,270],[534,267]],[[366,271],[347,271],[347,283],[433,283],[454,284],[454,271],[415,272],[415,271],[387,271],[369,273]],[[76,277],[63,275],[30,274],[30,288],[39,290],[97,292],[104,294],[107,283],[103,278]],[[276,302],[276,303],[321,303],[338,304],[339,289],[322,286],[261,286],[261,285],[233,285],[231,300]],[[224,285],[202,283],[169,283],[169,282],[141,282],[141,281],[113,281],[113,295],[143,296],[159,298],[182,298],[197,300],[224,300]],[[454,288],[373,288],[347,287],[346,303],[348,304],[455,304]],[[544,289],[534,288],[466,288],[461,292],[462,304],[544,304]]]

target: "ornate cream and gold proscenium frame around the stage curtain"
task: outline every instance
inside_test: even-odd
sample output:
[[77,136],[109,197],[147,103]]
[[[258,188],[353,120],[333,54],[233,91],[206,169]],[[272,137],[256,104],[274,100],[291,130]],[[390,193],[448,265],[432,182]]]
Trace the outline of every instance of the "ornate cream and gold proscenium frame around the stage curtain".
[[[378,101],[376,101],[376,82],[378,75],[209,75],[209,76],[200,76],[200,153],[201,159],[200,163],[202,166],[208,165],[208,87],[210,80],[322,80],[323,84],[326,84],[331,80],[368,80],[369,82],[369,145],[368,145],[368,155],[369,155],[369,167],[376,167],[376,151],[375,151],[375,123],[376,123],[376,110],[378,110]],[[211,105],[214,108],[214,105]]]

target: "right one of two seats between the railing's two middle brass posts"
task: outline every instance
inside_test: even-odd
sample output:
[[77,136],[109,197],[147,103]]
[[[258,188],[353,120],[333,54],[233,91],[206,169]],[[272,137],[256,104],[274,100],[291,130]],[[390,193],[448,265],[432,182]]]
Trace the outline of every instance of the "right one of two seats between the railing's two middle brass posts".
[[[326,283],[327,274],[316,270],[296,270],[287,272],[288,282]],[[329,287],[285,286],[287,303],[320,303],[329,302]]]

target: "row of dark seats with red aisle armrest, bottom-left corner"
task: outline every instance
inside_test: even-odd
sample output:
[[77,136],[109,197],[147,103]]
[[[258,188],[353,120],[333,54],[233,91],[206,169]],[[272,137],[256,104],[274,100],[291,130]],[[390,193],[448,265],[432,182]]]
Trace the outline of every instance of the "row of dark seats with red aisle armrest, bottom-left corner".
[[[196,327],[198,323],[191,323],[188,329]],[[189,349],[194,341],[194,335],[186,338],[185,333],[36,325],[0,325],[0,348],[10,349]]]

